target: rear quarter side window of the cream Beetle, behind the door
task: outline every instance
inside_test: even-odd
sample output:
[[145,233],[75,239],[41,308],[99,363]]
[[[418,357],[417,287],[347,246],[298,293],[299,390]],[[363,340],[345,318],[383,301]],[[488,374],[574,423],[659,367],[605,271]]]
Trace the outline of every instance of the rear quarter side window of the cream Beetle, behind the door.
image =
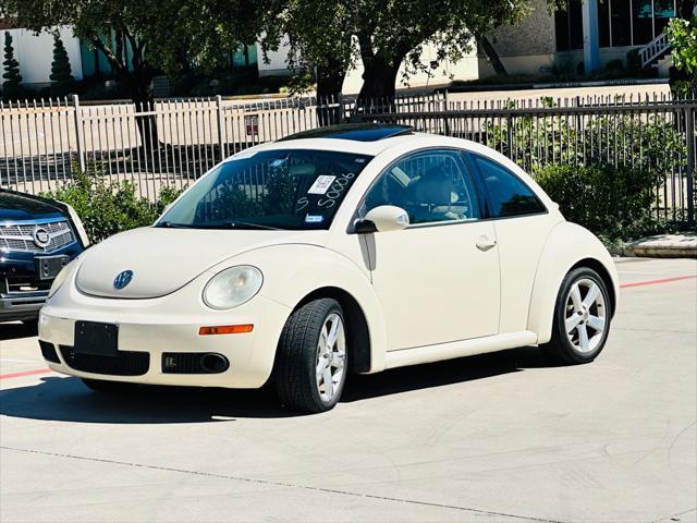
[[511,216],[545,212],[545,206],[518,177],[505,167],[479,155],[472,155],[489,193],[491,216]]

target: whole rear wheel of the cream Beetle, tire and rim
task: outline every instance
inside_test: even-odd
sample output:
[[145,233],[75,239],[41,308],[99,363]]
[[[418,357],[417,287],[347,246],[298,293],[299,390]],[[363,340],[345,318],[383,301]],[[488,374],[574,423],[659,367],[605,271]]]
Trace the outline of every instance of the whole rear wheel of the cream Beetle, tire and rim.
[[602,278],[587,267],[572,270],[559,290],[552,338],[542,351],[565,365],[592,362],[608,340],[611,316],[610,295]]

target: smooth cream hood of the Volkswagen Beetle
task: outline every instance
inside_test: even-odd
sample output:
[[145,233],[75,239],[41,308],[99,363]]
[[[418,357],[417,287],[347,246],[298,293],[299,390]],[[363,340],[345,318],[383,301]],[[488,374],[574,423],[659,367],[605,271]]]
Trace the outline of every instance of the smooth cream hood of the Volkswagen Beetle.
[[[325,232],[134,229],[86,251],[76,284],[81,292],[95,296],[163,296],[239,254],[278,244],[322,245]],[[123,271],[132,271],[133,277],[123,289],[117,289],[114,279]]]

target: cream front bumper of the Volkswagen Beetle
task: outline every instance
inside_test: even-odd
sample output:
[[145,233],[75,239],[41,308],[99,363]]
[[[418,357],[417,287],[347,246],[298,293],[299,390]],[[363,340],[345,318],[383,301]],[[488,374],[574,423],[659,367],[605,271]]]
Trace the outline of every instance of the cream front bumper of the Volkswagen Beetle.
[[[151,300],[98,299],[80,294],[72,281],[44,307],[39,317],[39,340],[52,344],[58,363],[47,358],[48,366],[59,373],[115,381],[150,385],[258,388],[269,378],[278,340],[290,308],[265,296],[221,313],[206,311],[197,303],[188,285],[169,296]],[[71,358],[75,321],[102,321],[119,326],[119,358],[91,358],[89,365]],[[246,333],[200,336],[201,326],[247,325]],[[163,355],[169,353],[217,353],[230,366],[219,374],[170,374],[163,369]],[[138,355],[139,354],[139,355]],[[143,354],[147,362],[143,363]],[[46,355],[46,353],[45,353]],[[95,360],[97,366],[95,366]],[[113,360],[113,358],[112,358]],[[101,362],[101,364],[99,363]],[[134,363],[135,362],[135,363]],[[117,364],[115,367],[113,364]],[[124,375],[125,365],[127,374]],[[86,372],[89,368],[91,372]]]

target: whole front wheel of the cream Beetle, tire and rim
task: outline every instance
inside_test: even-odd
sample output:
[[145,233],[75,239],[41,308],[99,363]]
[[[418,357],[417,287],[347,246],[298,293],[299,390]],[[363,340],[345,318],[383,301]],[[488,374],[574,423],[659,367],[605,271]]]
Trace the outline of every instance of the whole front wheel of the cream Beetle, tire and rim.
[[281,402],[291,409],[325,412],[346,380],[346,333],[341,305],[322,297],[291,314],[279,341],[273,378]]

